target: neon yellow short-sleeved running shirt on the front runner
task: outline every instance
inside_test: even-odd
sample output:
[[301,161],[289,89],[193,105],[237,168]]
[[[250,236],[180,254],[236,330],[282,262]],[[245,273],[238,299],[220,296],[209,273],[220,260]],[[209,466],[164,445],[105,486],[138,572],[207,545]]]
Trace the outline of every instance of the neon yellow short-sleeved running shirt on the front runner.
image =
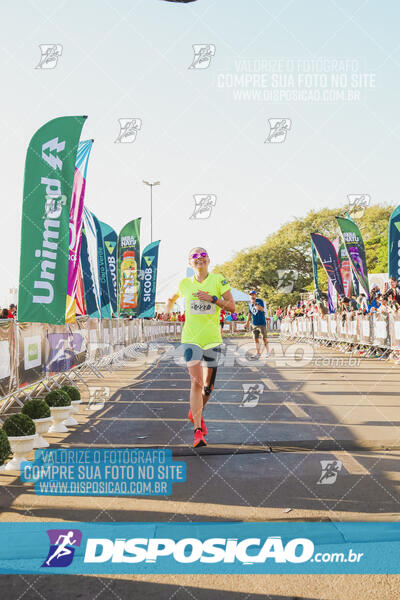
[[201,283],[195,277],[186,277],[179,284],[177,294],[185,298],[185,324],[182,329],[182,344],[196,344],[206,350],[222,344],[219,315],[221,309],[212,302],[199,300],[197,292],[222,297],[231,289],[223,275],[209,273]]

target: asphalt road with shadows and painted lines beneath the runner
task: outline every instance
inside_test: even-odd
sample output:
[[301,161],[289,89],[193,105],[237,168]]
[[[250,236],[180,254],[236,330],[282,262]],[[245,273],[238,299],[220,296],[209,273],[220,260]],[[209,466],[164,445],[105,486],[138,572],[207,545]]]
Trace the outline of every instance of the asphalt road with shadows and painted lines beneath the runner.
[[[89,379],[104,405],[82,405],[79,426],[48,436],[57,447],[169,447],[187,466],[172,496],[35,496],[31,484],[3,472],[1,520],[398,520],[400,367],[277,338],[270,358],[253,360],[249,338],[225,343],[205,412],[206,448],[191,448],[189,378],[176,344]],[[89,390],[81,391],[88,401]],[[0,591],[7,598],[393,600],[399,583],[397,576],[1,576]]]

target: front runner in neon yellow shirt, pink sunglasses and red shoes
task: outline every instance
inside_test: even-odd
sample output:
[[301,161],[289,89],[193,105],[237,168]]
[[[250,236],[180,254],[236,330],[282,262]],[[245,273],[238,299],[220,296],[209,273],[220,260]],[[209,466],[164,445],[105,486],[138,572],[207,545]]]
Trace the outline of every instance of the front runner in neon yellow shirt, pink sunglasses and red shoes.
[[181,348],[191,382],[188,419],[194,425],[194,448],[207,445],[203,410],[214,388],[221,354],[220,311],[235,310],[231,286],[223,275],[209,273],[209,264],[207,250],[200,246],[192,248],[189,266],[194,270],[194,275],[182,279],[178,291],[167,305],[167,311],[171,311],[179,296],[185,298]]

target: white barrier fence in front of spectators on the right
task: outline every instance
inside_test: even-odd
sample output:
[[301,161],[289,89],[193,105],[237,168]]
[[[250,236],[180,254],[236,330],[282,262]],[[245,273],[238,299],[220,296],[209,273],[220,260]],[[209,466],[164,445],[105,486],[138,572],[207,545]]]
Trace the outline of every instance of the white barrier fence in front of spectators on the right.
[[400,314],[342,313],[285,318],[281,323],[281,337],[381,348],[386,356],[400,351]]

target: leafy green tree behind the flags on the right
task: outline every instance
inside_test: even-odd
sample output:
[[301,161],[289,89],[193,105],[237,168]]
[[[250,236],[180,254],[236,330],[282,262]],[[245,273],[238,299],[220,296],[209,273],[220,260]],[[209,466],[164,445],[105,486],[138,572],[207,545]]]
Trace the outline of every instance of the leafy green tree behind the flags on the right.
[[[365,210],[357,221],[363,236],[367,266],[370,273],[387,271],[387,238],[389,217],[393,206],[374,205]],[[215,272],[223,273],[234,287],[256,289],[269,306],[293,304],[299,294],[314,289],[310,234],[320,233],[333,240],[339,236],[335,216],[344,216],[343,208],[312,210],[305,217],[285,223],[271,233],[260,246],[240,250],[232,260],[217,265]],[[298,274],[293,292],[277,291],[278,270],[292,270]],[[327,291],[328,279],[319,265],[319,285]]]

